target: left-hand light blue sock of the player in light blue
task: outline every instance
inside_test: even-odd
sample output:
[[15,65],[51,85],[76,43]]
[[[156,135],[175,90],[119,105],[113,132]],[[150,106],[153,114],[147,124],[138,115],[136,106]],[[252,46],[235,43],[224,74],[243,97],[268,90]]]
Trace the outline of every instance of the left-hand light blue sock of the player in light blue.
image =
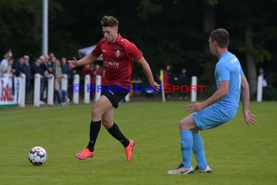
[[192,131],[191,130],[181,130],[180,136],[181,136],[180,144],[181,144],[182,159],[183,159],[182,163],[186,168],[190,168],[191,167],[191,151],[192,151],[192,145],[193,145]]

